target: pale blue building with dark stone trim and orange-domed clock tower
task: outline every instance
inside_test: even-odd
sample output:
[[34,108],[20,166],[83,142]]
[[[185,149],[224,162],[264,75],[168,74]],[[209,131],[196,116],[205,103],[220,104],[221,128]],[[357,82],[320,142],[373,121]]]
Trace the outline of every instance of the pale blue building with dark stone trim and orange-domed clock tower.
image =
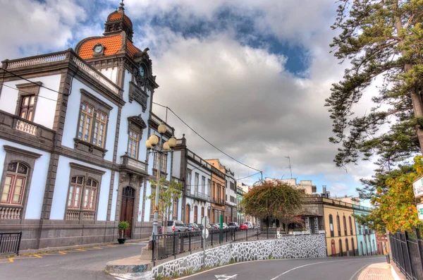
[[0,229],[23,231],[20,248],[113,241],[123,220],[126,237],[151,235],[149,180],[173,166],[142,144],[161,123],[147,51],[121,4],[75,50],[2,61]]

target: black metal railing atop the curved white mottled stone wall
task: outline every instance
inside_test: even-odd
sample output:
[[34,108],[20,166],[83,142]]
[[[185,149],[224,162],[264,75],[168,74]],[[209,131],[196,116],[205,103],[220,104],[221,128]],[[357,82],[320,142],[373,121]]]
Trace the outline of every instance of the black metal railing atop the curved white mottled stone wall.
[[[183,252],[191,252],[203,246],[201,231],[157,234],[152,238],[152,260],[161,260]],[[253,241],[276,238],[272,229],[210,229],[205,246],[220,245],[234,241]]]

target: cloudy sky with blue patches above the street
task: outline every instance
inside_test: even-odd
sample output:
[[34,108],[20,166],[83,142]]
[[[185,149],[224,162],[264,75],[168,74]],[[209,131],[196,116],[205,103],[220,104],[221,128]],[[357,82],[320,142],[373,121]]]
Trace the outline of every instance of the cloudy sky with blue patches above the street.
[[[75,47],[102,35],[119,0],[0,0],[0,59]],[[336,32],[334,0],[125,0],[137,47],[149,47],[160,87],[155,102],[171,107],[198,133],[264,176],[312,180],[333,195],[354,195],[374,166],[336,168],[324,107],[345,65],[329,54]],[[165,111],[154,107],[159,116]],[[248,170],[214,150],[169,114],[190,150],[242,178]],[[245,179],[252,183],[258,176]]]

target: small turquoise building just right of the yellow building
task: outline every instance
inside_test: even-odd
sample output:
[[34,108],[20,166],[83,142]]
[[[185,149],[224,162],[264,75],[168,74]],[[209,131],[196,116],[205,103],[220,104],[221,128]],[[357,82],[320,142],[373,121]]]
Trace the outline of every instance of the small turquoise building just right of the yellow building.
[[[372,212],[371,209],[359,205],[354,205],[354,214],[360,216],[367,216]],[[376,234],[372,229],[367,226],[355,223],[357,231],[357,249],[359,256],[376,255]]]

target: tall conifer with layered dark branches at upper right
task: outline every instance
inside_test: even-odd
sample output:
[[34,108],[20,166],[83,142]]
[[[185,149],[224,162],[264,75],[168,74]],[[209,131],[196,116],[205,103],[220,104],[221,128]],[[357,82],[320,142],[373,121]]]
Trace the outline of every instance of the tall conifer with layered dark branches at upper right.
[[[333,29],[334,55],[349,61],[343,80],[326,99],[333,119],[330,142],[341,144],[337,166],[377,155],[379,169],[391,170],[423,147],[422,0],[341,0]],[[369,114],[356,116],[375,78],[383,83]],[[380,128],[386,132],[381,132]]]

